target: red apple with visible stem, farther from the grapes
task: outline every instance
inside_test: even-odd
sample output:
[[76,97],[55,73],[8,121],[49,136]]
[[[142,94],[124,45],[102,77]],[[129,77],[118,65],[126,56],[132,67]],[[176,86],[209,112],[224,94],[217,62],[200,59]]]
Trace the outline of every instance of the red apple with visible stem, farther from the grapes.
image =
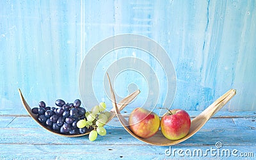
[[182,109],[168,111],[161,118],[161,131],[169,140],[184,138],[189,132],[191,120],[188,113]]

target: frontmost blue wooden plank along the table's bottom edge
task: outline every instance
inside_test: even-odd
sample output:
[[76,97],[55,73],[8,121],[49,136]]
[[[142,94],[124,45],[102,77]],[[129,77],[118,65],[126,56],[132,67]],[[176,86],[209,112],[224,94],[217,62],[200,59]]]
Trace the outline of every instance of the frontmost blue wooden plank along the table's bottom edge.
[[[0,159],[205,159],[240,158],[241,153],[250,153],[249,159],[256,157],[255,145],[172,146],[154,147],[150,145],[0,145]],[[17,152],[19,150],[19,152]],[[175,151],[176,150],[176,151]],[[179,153],[178,150],[183,150]],[[190,150],[190,152],[188,152]],[[200,150],[202,154],[200,154]],[[212,151],[210,151],[212,150]],[[223,152],[224,150],[224,152]],[[230,154],[226,151],[230,150]],[[232,155],[237,150],[236,155]],[[172,154],[170,154],[170,152]],[[180,156],[180,155],[184,156]],[[246,158],[246,157],[244,157]]]

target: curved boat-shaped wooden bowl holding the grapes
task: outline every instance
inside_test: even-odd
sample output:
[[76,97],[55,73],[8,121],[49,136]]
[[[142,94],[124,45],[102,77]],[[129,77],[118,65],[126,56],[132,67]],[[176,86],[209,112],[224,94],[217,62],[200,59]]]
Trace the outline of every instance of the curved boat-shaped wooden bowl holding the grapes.
[[[125,106],[127,106],[127,104],[129,104],[138,94],[140,93],[140,90],[136,90],[135,92],[131,93],[130,95],[128,95],[127,97],[125,97],[124,99],[122,99],[120,101],[119,104],[117,104],[118,106],[118,110],[122,111],[122,109],[125,108]],[[78,137],[78,136],[84,136],[86,134],[89,134],[91,130],[89,130],[88,132],[84,133],[84,134],[60,134],[58,132],[55,132],[53,130],[51,130],[49,127],[42,125],[37,118],[37,115],[35,115],[34,113],[32,113],[32,108],[29,107],[28,103],[26,102],[26,100],[24,99],[20,89],[19,89],[19,94],[20,94],[20,99],[22,101],[22,104],[24,106],[24,108],[28,111],[28,114],[35,120],[35,122],[37,122],[41,127],[43,127],[44,129],[46,129],[49,132],[52,132],[54,134],[58,134],[59,136],[66,136],[66,137]],[[125,104],[125,105],[124,105]],[[108,124],[109,121],[111,121],[113,119],[113,117],[115,116],[115,108],[112,108],[110,111],[110,116],[108,118],[108,121],[106,122],[106,124]]]

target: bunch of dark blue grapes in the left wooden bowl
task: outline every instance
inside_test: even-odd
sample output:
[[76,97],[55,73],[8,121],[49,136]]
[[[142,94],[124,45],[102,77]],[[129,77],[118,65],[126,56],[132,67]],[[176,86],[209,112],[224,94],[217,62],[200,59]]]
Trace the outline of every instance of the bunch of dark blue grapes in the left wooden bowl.
[[45,106],[45,102],[39,102],[39,108],[33,108],[32,113],[38,115],[38,121],[60,134],[84,134],[92,130],[77,128],[76,124],[85,117],[86,109],[81,107],[81,100],[76,99],[74,103],[66,103],[57,99],[55,107]]

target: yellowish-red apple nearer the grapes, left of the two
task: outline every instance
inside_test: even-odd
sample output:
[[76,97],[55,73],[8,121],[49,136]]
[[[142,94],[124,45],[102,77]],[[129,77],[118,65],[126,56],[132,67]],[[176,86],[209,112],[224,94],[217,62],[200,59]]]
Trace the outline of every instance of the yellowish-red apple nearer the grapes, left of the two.
[[140,138],[150,138],[159,130],[160,118],[152,111],[136,108],[129,116],[129,127]]

